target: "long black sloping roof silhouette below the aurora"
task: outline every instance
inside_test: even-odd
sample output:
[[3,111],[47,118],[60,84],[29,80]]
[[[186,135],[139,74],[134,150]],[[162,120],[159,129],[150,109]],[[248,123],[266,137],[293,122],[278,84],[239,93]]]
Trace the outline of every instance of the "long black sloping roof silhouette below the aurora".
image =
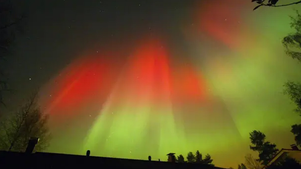
[[203,164],[172,163],[163,161],[132,160],[122,158],[106,158],[83,155],[68,155],[36,152],[25,154],[19,152],[0,151],[1,169],[66,169],[66,168],[178,168],[178,169],[223,169]]

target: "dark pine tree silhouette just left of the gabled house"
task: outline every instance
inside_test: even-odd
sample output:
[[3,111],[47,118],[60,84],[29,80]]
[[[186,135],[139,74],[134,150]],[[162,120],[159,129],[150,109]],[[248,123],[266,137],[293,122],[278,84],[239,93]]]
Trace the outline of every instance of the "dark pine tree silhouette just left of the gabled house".
[[259,152],[258,161],[263,165],[267,165],[268,162],[275,156],[278,152],[276,145],[265,141],[265,134],[260,131],[252,131],[250,133],[250,140],[254,146],[250,146],[250,149],[256,152]]

